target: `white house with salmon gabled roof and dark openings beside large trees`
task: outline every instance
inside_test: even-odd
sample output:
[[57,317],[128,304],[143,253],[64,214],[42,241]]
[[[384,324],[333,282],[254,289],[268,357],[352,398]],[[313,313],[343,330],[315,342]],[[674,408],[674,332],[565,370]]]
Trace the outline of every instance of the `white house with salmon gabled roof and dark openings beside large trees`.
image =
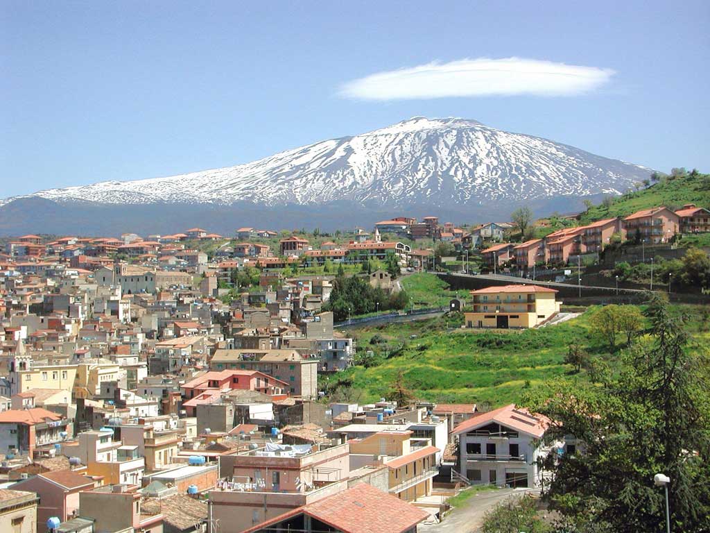
[[514,404],[478,414],[454,428],[459,472],[474,485],[537,487],[537,458],[549,452],[543,438],[550,421]]

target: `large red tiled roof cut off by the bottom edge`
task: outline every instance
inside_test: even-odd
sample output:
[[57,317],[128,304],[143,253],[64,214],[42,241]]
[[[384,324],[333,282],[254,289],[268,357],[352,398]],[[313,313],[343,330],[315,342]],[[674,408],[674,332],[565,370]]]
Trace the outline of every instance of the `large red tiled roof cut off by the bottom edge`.
[[344,533],[403,533],[429,517],[429,513],[419,507],[371,485],[359,483],[348,490],[285,512],[244,533],[256,532],[300,513]]

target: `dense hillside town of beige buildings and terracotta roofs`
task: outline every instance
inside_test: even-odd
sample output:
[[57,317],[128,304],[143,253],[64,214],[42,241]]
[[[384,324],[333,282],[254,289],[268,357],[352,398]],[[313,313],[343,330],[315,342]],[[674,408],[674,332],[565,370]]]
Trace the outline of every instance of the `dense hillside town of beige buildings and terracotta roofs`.
[[[557,458],[585,453],[585,434],[495,390],[476,404],[333,384],[373,353],[358,325],[458,316],[466,335],[519,335],[647,298],[645,281],[620,287],[611,254],[650,266],[648,289],[707,304],[708,278],[679,271],[673,288],[663,268],[699,249],[708,262],[708,244],[678,246],[710,235],[706,206],[584,215],[6,239],[1,529],[436,532],[467,491],[539,492],[561,475]],[[437,278],[464,292],[438,306],[417,294],[412,280]]]

